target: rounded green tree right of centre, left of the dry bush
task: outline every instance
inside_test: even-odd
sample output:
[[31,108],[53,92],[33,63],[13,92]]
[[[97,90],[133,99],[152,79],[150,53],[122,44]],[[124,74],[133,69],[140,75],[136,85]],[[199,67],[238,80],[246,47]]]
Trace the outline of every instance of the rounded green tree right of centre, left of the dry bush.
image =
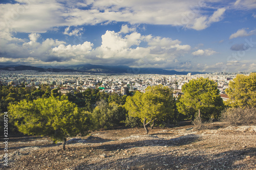
[[217,83],[208,78],[190,80],[183,85],[182,92],[184,95],[177,103],[178,111],[193,119],[199,111],[206,119],[218,117],[224,107]]

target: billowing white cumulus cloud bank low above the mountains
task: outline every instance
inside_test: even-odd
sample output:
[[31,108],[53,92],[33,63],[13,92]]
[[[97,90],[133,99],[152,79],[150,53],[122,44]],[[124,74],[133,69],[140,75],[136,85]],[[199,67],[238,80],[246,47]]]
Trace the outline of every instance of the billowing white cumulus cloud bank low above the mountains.
[[[67,30],[68,31],[68,30]],[[93,43],[85,41],[81,44],[67,44],[64,41],[47,38],[38,42],[39,33],[29,34],[25,42],[17,41],[1,45],[1,57],[5,63],[27,61],[33,64],[126,64],[135,67],[169,67],[181,64],[178,59],[190,52],[190,45],[182,44],[178,39],[141,35],[133,31],[123,34],[106,31],[101,45],[93,47]],[[141,45],[143,42],[143,45]],[[4,55],[6,54],[6,55]],[[8,59],[9,58],[9,59]],[[15,60],[11,60],[15,59]],[[27,64],[28,64],[27,63]]]

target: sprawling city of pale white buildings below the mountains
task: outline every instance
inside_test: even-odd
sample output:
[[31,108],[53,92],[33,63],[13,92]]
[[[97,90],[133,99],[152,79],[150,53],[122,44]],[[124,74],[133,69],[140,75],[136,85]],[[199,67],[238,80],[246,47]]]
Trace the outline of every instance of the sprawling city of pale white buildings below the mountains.
[[223,100],[227,100],[225,89],[228,88],[230,80],[236,78],[237,74],[249,75],[250,72],[238,72],[228,74],[225,72],[215,72],[212,74],[191,75],[144,75],[144,74],[123,74],[108,75],[90,72],[37,72],[34,70],[7,71],[0,70],[1,85],[26,87],[46,84],[51,89],[59,89],[62,94],[83,92],[86,89],[100,89],[106,93],[118,93],[126,95],[129,91],[145,92],[148,86],[163,85],[174,90],[174,96],[182,95],[182,86],[189,80],[197,78],[209,78],[218,83],[218,89]]

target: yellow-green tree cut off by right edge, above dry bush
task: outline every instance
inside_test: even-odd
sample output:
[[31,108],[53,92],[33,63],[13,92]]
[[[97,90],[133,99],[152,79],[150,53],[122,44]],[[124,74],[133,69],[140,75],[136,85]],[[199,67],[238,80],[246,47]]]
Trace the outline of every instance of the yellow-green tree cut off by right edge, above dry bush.
[[231,107],[256,107],[256,72],[249,76],[237,75],[230,81],[226,89],[229,100],[226,102]]

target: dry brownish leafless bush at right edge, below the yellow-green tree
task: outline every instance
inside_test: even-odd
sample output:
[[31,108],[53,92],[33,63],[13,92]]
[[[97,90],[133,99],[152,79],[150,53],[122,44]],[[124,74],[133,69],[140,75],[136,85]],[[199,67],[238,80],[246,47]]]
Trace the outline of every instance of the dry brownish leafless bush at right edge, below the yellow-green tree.
[[227,108],[222,112],[220,120],[232,126],[256,124],[256,108]]

